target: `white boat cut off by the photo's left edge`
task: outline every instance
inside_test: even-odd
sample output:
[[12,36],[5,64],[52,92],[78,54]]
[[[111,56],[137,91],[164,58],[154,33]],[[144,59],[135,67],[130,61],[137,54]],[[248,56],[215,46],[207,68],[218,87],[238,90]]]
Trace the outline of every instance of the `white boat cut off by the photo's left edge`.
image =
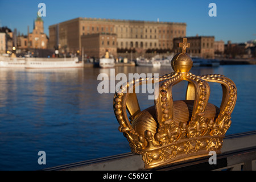
[[0,68],[25,68],[26,59],[24,57],[4,57],[0,56]]

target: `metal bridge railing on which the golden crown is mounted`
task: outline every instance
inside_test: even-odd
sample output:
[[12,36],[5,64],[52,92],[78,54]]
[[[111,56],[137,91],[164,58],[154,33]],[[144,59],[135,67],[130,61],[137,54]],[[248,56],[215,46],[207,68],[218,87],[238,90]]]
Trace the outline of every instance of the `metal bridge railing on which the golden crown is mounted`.
[[[209,163],[209,156],[172,163],[151,170],[236,170],[256,171],[256,131],[228,135],[224,138],[221,154],[216,164]],[[144,169],[141,155],[126,153],[106,158],[86,160],[44,170],[75,171],[138,171]]]

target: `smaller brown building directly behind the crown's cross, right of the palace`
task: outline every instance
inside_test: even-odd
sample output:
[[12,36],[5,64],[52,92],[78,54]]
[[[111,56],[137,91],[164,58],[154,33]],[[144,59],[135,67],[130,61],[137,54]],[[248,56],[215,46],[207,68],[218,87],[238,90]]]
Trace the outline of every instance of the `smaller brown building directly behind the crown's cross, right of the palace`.
[[[202,57],[205,59],[214,59],[214,36],[191,36],[187,37],[190,48],[187,53],[191,57]],[[183,38],[174,38],[174,45],[182,42]],[[174,52],[179,52],[179,47],[174,48]]]

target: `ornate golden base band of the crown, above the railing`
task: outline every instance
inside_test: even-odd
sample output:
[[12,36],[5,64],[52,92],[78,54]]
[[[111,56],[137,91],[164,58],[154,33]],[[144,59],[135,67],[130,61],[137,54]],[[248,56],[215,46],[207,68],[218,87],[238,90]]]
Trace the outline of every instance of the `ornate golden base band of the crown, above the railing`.
[[183,139],[164,146],[152,146],[146,149],[133,148],[131,152],[142,155],[144,168],[150,169],[168,164],[201,158],[209,155],[210,151],[221,153],[224,136],[205,136]]

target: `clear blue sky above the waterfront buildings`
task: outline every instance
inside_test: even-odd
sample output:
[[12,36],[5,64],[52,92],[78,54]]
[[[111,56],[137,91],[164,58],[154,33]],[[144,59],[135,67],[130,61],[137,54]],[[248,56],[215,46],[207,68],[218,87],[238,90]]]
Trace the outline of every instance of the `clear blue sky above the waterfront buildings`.
[[[129,1],[59,1],[59,0],[0,0],[0,26],[27,34],[32,31],[39,3],[46,4],[44,31],[48,26],[65,20],[88,17],[160,22],[187,23],[187,36],[209,35],[215,40],[242,43],[256,39],[255,0],[129,0]],[[210,17],[209,3],[216,3],[217,16]]]

